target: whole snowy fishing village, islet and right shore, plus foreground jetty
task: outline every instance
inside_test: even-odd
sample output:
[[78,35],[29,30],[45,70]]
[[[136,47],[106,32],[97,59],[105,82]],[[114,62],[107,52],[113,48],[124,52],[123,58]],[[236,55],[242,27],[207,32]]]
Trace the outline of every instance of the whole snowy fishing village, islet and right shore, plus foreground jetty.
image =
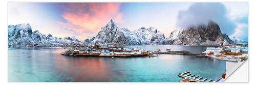
[[[213,58],[224,61],[231,62],[243,62],[248,59],[248,48],[247,44],[240,45],[225,45],[218,47],[206,47],[206,50],[202,53],[190,53],[186,50],[181,51],[172,51],[170,48],[165,50],[157,49],[156,51],[147,50],[143,48],[123,48],[114,45],[100,46],[97,44],[94,45],[84,45],[76,46],[71,49],[62,52],[62,55],[70,56],[97,56],[97,57],[106,57],[106,58],[130,58],[130,57],[154,57],[158,54],[183,54],[183,55],[192,55],[197,58]],[[183,79],[179,82],[222,82],[224,81],[226,72],[224,72],[220,77],[212,80],[208,78],[203,78],[191,74],[190,71],[179,73],[178,77]]]

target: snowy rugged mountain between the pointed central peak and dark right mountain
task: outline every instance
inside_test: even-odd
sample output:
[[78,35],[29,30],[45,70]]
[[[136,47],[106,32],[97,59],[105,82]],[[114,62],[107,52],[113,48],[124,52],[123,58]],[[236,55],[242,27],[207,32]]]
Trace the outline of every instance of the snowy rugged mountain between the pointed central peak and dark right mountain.
[[140,36],[145,44],[164,44],[165,37],[164,34],[154,29],[154,27],[149,27],[145,29],[145,27],[141,27],[138,30],[134,31],[136,35]]

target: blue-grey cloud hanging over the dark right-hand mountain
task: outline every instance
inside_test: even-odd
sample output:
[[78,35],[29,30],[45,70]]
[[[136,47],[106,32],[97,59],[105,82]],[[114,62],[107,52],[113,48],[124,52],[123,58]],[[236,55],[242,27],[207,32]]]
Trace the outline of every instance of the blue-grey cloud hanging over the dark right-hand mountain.
[[185,29],[191,24],[206,24],[209,20],[217,22],[221,31],[228,35],[233,34],[237,27],[227,17],[227,9],[222,3],[195,3],[187,10],[179,11],[177,26]]

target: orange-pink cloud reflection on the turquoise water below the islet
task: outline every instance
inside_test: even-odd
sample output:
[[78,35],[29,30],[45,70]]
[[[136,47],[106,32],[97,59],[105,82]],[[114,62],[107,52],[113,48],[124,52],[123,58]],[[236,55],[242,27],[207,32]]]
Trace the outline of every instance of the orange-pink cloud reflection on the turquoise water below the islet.
[[75,81],[108,81],[109,63],[102,58],[91,57],[55,57],[55,68],[58,72],[71,76]]

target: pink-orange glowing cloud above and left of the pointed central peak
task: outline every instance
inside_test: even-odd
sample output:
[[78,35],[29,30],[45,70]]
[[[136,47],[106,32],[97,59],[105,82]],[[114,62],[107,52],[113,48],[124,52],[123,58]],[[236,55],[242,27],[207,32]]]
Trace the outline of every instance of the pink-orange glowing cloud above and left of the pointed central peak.
[[61,17],[67,22],[57,23],[73,33],[93,37],[109,19],[122,23],[123,13],[119,12],[120,5],[121,3],[67,3],[61,5]]

